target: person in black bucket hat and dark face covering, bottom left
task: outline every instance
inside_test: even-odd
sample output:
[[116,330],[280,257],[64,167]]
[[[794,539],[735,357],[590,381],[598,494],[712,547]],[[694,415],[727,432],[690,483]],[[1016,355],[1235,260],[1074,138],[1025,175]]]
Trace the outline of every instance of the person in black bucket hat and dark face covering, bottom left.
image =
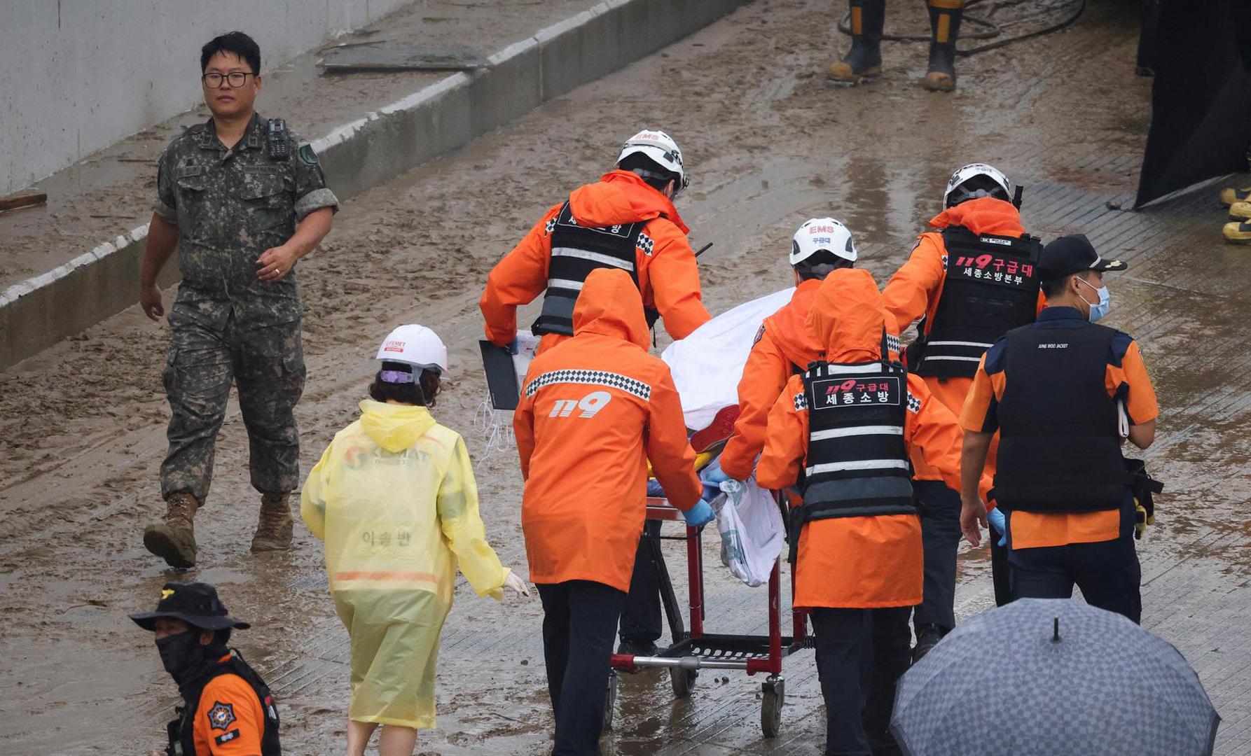
[[165,726],[166,754],[281,754],[269,686],[239,651],[226,647],[231,630],[250,625],[226,612],[216,589],[166,582],[155,611],[129,616],[154,634],[161,664],[183,696],[179,716]]

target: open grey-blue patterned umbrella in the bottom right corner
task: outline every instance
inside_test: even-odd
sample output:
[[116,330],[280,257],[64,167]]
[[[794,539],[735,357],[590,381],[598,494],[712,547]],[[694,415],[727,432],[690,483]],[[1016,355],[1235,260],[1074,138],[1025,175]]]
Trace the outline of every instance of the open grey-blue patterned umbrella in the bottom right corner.
[[909,756],[1211,754],[1221,717],[1171,644],[1071,599],[1022,599],[958,626],[899,680]]

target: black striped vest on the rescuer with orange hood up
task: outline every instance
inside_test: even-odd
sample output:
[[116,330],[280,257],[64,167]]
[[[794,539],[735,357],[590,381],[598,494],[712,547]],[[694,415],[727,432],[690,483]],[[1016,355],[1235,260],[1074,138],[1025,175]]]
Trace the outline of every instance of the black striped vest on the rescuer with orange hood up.
[[808,410],[808,452],[803,506],[792,517],[792,561],[809,520],[916,514],[903,442],[908,374],[902,365],[813,362],[796,402]]

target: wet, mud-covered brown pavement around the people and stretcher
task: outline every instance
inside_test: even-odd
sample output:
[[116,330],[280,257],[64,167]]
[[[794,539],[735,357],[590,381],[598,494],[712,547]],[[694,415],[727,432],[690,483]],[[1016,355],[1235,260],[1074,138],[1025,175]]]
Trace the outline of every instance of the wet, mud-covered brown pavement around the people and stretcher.
[[[919,5],[888,22],[923,26]],[[693,175],[679,209],[714,312],[786,285],[793,229],[833,215],[879,280],[938,210],[947,174],[972,160],[1027,185],[1026,225],[1085,231],[1131,270],[1110,279],[1107,321],[1135,335],[1162,405],[1145,456],[1168,485],[1140,542],[1143,625],[1198,670],[1225,717],[1217,751],[1251,752],[1251,257],[1221,244],[1223,212],[1200,192],[1131,214],[1150,81],[1132,75],[1137,4],[1095,2],[1073,29],[961,61],[952,96],[919,89],[923,47],[886,49],[887,75],[828,90],[819,70],[842,37],[829,2],[757,0],[707,30],[554,100],[468,149],[348,202],[301,262],[309,387],[298,409],[305,470],[349,422],[377,341],[395,324],[434,326],[452,347],[437,416],[477,460],[482,511],[505,564],[524,572],[515,452],[484,455],[477,297],[490,265],[552,202],[598,175],[638,126],[674,134]],[[523,322],[525,317],[523,315]],[[166,407],[166,326],[134,309],[0,374],[0,742],[13,754],[140,752],[159,744],[174,687],[151,637],[125,612],[174,577],[143,550],[163,511],[156,471]],[[662,341],[663,346],[663,341]],[[289,554],[255,557],[258,496],[231,411],[218,475],[196,519],[201,565],[251,620],[238,645],[283,704],[291,754],[339,750],[347,636],[334,617],[320,544],[303,526]],[[714,541],[714,539],[712,539]],[[671,569],[684,585],[672,545]],[[991,605],[985,549],[962,554],[961,617]],[[711,631],[763,632],[764,589],[718,566],[709,542]],[[683,595],[679,589],[679,596]],[[549,747],[537,600],[479,600],[460,585],[444,631],[439,727],[419,750],[540,754]],[[970,674],[987,674],[985,669]],[[759,679],[706,672],[674,701],[668,677],[626,676],[618,754],[816,754],[824,712],[809,652],[787,661],[782,736],[759,732]],[[987,727],[995,726],[993,712]]]

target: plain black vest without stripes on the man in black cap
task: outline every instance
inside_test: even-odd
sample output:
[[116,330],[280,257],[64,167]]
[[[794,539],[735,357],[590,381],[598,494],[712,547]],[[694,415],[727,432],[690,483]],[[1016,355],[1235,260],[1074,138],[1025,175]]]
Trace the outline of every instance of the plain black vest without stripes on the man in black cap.
[[1095,324],[1007,334],[993,494],[1005,510],[1086,512],[1128,499],[1116,401],[1103,384],[1116,334]]

